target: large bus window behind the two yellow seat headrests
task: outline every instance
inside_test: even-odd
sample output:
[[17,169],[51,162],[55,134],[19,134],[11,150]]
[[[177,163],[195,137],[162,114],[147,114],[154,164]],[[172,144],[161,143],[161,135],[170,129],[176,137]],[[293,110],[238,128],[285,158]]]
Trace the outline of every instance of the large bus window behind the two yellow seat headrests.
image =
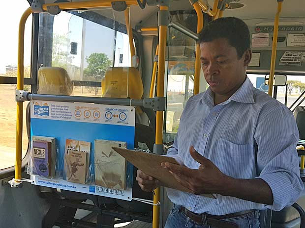
[[39,66],[65,69],[73,83],[70,95],[100,97],[107,69],[131,66],[126,25],[115,22],[116,13],[101,9],[42,14],[40,37],[49,39],[40,41]]

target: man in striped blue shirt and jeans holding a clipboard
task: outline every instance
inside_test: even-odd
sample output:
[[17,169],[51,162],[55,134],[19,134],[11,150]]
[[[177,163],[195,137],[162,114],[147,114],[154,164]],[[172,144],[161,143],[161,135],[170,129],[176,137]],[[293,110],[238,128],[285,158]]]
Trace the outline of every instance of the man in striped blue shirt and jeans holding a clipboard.
[[[167,153],[184,165],[161,164],[194,194],[168,189],[175,206],[165,227],[258,228],[259,209],[281,210],[304,188],[295,149],[298,129],[291,111],[247,78],[252,53],[242,20],[209,23],[199,42],[210,87],[187,102]],[[140,170],[137,181],[145,191],[159,185]]]

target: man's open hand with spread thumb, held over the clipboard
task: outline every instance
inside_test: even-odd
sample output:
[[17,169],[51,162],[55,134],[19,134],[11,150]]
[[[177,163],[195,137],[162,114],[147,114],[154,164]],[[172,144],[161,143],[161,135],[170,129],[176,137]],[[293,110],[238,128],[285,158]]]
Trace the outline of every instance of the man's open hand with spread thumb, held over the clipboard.
[[168,169],[179,183],[196,195],[220,193],[229,177],[212,161],[196,152],[193,146],[189,148],[189,153],[200,164],[198,169],[189,169],[169,162],[162,162],[161,166]]

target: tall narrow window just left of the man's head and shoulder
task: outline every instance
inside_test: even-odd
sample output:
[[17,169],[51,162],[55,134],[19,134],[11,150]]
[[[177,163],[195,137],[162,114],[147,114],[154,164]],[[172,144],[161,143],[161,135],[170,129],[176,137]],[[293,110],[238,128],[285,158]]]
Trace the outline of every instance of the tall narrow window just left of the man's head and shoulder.
[[169,28],[166,58],[167,107],[165,142],[174,140],[183,107],[194,91],[196,42],[175,28]]

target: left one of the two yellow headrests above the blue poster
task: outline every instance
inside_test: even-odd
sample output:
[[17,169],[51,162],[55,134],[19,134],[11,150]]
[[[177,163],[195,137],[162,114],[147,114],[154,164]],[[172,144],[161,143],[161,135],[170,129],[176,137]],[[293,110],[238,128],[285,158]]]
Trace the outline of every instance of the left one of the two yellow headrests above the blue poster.
[[40,67],[38,70],[38,94],[66,95],[73,92],[71,79],[61,67]]

